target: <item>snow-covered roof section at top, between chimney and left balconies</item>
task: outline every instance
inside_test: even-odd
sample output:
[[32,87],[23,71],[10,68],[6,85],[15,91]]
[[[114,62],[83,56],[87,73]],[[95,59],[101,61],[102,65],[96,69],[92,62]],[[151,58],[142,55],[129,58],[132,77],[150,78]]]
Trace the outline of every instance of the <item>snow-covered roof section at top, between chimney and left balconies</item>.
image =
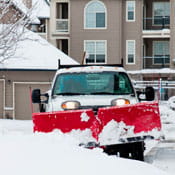
[[50,6],[45,0],[32,0],[32,8],[38,18],[50,18]]

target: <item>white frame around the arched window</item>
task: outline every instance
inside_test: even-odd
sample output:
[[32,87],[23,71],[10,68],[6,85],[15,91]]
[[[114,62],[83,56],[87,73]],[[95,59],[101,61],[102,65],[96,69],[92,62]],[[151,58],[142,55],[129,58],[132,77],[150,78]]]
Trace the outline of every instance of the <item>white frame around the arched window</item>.
[[[101,3],[104,6],[104,8],[105,8],[105,26],[104,27],[86,27],[86,9],[93,2]],[[106,5],[103,2],[101,2],[99,0],[92,0],[92,1],[90,1],[90,2],[88,2],[86,4],[86,6],[84,8],[84,29],[93,29],[93,30],[101,30],[101,29],[104,30],[104,29],[107,29],[107,9],[106,9]]]

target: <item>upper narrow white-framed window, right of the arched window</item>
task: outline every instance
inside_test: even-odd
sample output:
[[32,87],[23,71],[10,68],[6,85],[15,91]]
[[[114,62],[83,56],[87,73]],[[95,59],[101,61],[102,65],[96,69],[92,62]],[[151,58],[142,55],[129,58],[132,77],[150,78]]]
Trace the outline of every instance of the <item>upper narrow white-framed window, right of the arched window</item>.
[[135,21],[135,1],[126,1],[126,21]]

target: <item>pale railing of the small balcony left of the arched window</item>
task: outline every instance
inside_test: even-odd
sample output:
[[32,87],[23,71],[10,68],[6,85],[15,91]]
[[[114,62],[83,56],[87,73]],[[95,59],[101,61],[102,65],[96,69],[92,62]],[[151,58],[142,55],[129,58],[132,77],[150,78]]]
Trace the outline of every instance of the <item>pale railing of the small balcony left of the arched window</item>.
[[69,20],[56,19],[56,32],[69,32]]

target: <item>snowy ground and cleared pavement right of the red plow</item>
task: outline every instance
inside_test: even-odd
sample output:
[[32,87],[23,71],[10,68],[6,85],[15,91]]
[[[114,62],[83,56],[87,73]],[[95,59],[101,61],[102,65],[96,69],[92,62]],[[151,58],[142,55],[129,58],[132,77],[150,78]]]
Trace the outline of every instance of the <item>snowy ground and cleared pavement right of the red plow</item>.
[[165,140],[156,146],[151,164],[171,175],[175,175],[175,111],[171,110],[167,104],[167,102],[161,102],[160,104]]

